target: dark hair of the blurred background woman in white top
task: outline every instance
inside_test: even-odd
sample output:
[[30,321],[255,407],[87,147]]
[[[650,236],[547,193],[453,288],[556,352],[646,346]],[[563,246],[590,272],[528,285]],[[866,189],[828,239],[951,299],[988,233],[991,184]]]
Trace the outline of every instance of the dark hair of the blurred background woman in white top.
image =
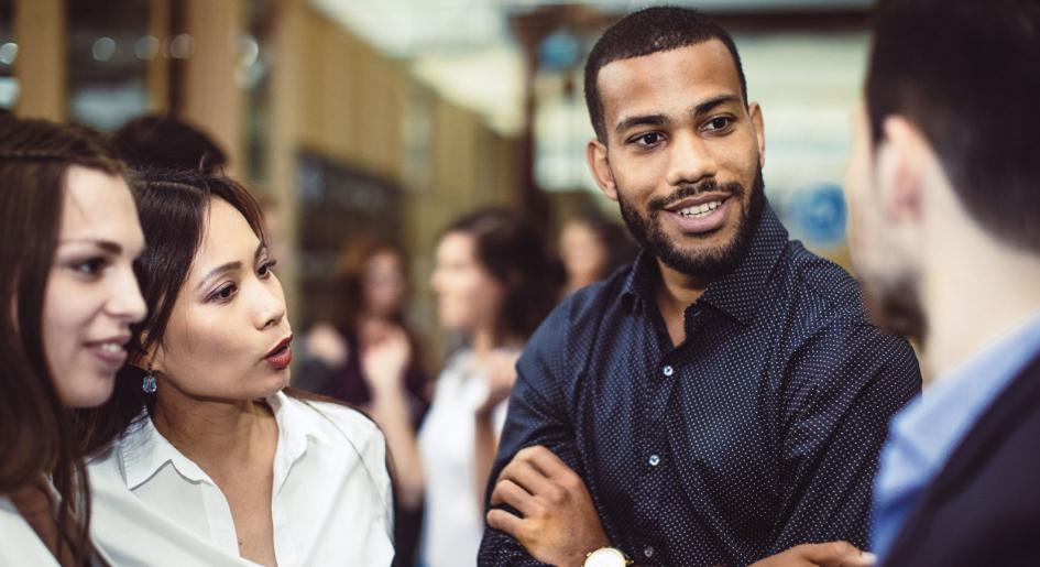
[[499,334],[524,339],[556,306],[563,271],[547,253],[540,233],[506,209],[484,209],[452,222],[445,235],[462,232],[477,243],[477,258],[506,290]]

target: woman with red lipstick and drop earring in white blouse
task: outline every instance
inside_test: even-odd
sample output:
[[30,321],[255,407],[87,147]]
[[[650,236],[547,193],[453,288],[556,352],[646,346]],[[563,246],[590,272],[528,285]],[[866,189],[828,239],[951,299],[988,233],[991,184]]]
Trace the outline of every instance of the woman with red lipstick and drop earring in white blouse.
[[85,428],[98,544],[119,565],[388,566],[383,436],[286,388],[293,334],[260,206],[217,174],[136,185],[150,315]]

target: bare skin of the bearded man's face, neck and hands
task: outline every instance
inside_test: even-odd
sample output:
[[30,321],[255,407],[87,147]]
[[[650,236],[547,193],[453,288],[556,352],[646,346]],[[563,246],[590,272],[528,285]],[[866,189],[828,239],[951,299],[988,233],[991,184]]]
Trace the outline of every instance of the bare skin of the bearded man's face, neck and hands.
[[[745,106],[740,76],[719,41],[613,62],[599,74],[607,143],[590,140],[592,175],[609,198],[657,227],[672,248],[698,260],[718,253],[738,237],[740,219],[752,206],[756,177],[765,165],[762,110]],[[634,120],[644,117],[641,120]],[[653,117],[653,119],[647,118]],[[740,184],[727,198],[721,222],[710,231],[690,230],[669,209],[691,188]],[[680,197],[677,197],[679,195]],[[721,208],[721,207],[720,207]],[[631,225],[631,222],[630,222]],[[683,313],[711,280],[669,268],[658,259],[657,305],[675,345],[686,339]],[[522,517],[492,510],[488,523],[521,542],[536,559],[560,567],[584,561],[610,545],[581,478],[544,447],[518,452],[495,481],[492,503],[505,503]],[[820,547],[820,545],[824,547]],[[757,567],[869,565],[844,544],[799,546]]]

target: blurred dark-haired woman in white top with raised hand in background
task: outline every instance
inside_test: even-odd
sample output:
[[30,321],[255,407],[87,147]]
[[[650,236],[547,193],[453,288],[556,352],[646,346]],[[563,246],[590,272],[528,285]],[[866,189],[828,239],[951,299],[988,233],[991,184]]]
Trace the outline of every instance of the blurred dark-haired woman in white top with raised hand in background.
[[409,349],[384,328],[365,359],[372,416],[386,435],[398,494],[426,502],[420,565],[473,565],[483,533],[481,500],[497,447],[513,366],[552,308],[562,281],[538,232],[517,215],[483,210],[452,223],[437,246],[431,277],[441,325],[466,346],[437,379],[416,435],[402,395]]

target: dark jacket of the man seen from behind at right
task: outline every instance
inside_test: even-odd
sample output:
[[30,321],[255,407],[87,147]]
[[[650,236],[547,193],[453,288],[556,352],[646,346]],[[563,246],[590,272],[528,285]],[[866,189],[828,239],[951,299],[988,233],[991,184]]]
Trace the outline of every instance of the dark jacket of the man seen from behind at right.
[[1040,566],[1040,358],[983,414],[884,567]]

